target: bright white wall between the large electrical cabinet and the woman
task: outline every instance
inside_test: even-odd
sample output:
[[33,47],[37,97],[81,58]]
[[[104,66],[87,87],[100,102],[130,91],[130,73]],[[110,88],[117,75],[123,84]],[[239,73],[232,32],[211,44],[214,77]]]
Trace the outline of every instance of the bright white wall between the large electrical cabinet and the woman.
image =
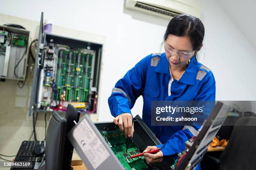
[[[0,11],[35,21],[39,21],[40,13],[44,11],[44,18],[51,19],[54,25],[106,36],[99,119],[111,121],[113,118],[108,108],[108,96],[115,82],[144,56],[160,51],[168,20],[126,10],[122,0],[81,0],[73,3],[67,1],[65,4],[59,0],[41,5],[44,2],[3,0]],[[141,110],[142,99],[138,99],[133,113],[141,114]]]

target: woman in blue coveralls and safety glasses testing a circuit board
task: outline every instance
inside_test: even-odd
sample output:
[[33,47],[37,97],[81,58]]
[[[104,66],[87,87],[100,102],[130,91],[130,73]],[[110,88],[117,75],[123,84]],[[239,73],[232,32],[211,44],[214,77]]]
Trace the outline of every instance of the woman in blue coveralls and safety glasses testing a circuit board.
[[[191,15],[178,15],[168,24],[164,35],[165,53],[143,58],[120,79],[108,99],[115,124],[133,136],[131,108],[143,96],[143,120],[151,124],[152,100],[215,100],[215,79],[212,72],[197,62],[203,46],[205,28]],[[156,154],[144,153],[146,162],[161,162],[163,156],[185,149],[185,141],[198,134],[199,127],[151,126],[161,143],[166,145]],[[145,152],[158,146],[148,146]],[[199,168],[199,167],[198,167]]]

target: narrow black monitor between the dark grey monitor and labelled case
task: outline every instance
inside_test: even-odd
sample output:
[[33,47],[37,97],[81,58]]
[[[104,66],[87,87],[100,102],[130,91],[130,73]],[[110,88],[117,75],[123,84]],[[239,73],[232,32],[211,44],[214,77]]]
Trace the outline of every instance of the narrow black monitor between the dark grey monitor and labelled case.
[[[68,104],[66,119],[67,119],[67,128],[66,134],[74,127],[74,121],[78,122],[80,117],[80,112],[77,111],[74,106]],[[72,155],[73,155],[74,147],[69,142],[68,137],[65,137],[65,145],[64,145],[64,161],[63,161],[63,170],[70,170]]]

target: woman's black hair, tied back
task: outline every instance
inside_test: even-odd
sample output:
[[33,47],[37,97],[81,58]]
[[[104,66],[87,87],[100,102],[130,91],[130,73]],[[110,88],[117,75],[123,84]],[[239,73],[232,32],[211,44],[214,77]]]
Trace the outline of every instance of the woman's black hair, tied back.
[[205,27],[199,18],[187,14],[175,16],[170,20],[166,28],[164,41],[169,34],[174,36],[189,36],[197,60],[197,52],[200,50],[205,36]]

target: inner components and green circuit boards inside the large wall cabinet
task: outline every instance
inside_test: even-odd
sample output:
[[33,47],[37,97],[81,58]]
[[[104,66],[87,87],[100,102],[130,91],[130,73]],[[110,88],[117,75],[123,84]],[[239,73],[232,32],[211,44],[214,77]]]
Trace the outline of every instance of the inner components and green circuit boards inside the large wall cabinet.
[[90,94],[97,95],[97,88],[92,87],[96,52],[54,43],[44,48],[38,107],[65,111],[71,103],[91,111]]

